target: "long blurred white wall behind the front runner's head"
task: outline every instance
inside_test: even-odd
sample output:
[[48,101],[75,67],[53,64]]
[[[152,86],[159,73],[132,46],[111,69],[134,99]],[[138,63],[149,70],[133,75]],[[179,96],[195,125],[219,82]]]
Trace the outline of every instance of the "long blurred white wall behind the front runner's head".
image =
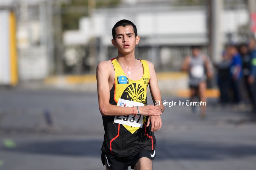
[[[206,12],[201,9],[192,10],[137,10],[129,8],[98,9],[91,18],[81,18],[80,29],[64,33],[64,44],[86,44],[93,37],[101,37],[103,44],[111,45],[111,29],[113,25],[121,20],[128,19],[137,26],[138,34],[143,37],[162,38],[150,39],[159,43],[178,45],[189,43],[207,43],[207,23]],[[123,11],[123,12],[122,12]],[[118,14],[118,15],[117,15]],[[240,25],[249,22],[246,9],[223,11],[221,20],[221,30],[223,36],[226,33],[236,33]],[[80,38],[76,38],[80,37]],[[81,37],[85,40],[81,43]],[[164,38],[163,38],[164,37]],[[187,38],[186,38],[187,37]],[[224,41],[225,38],[223,38]]]

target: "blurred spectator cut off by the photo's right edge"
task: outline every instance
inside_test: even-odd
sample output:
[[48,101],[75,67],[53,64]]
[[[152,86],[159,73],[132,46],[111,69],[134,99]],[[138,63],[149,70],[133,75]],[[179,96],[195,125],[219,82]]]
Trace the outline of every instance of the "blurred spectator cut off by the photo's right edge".
[[251,102],[253,105],[253,112],[256,113],[256,40],[250,39],[250,74],[248,75],[248,89],[251,91]]

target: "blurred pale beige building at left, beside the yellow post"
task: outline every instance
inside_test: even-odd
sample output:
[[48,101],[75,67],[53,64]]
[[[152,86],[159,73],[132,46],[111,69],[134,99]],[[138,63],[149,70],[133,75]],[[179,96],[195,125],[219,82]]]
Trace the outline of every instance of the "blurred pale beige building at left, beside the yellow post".
[[1,0],[0,9],[10,10],[16,16],[17,43],[13,50],[18,56],[19,80],[38,80],[52,74],[55,70],[53,1]]

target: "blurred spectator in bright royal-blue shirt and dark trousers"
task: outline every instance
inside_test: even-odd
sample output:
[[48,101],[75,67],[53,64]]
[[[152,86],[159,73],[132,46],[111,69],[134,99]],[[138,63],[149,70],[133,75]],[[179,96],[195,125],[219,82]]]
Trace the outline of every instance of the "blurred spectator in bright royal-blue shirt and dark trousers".
[[241,83],[242,83],[242,60],[241,56],[237,51],[235,45],[230,45],[228,47],[228,55],[231,57],[230,65],[230,82],[231,89],[233,92],[233,101],[235,104],[242,105],[241,98]]

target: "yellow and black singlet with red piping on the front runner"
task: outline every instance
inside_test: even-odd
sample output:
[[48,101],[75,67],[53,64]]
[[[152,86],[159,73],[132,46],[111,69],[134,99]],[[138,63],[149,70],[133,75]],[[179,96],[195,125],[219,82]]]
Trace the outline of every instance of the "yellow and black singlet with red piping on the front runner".
[[[150,79],[149,67],[145,60],[140,61],[143,65],[143,77],[134,81],[125,75],[116,58],[111,60],[115,69],[115,81],[110,90],[110,104],[117,105],[119,98],[121,98],[147,105],[147,86]],[[134,107],[134,109],[137,108]],[[146,127],[148,116],[143,116],[142,128],[118,124],[114,122],[114,119],[115,116],[102,116],[105,130],[104,142],[101,148],[103,152],[109,152],[119,157],[129,157],[142,150],[155,150],[156,140],[154,132],[150,130],[151,124]]]

